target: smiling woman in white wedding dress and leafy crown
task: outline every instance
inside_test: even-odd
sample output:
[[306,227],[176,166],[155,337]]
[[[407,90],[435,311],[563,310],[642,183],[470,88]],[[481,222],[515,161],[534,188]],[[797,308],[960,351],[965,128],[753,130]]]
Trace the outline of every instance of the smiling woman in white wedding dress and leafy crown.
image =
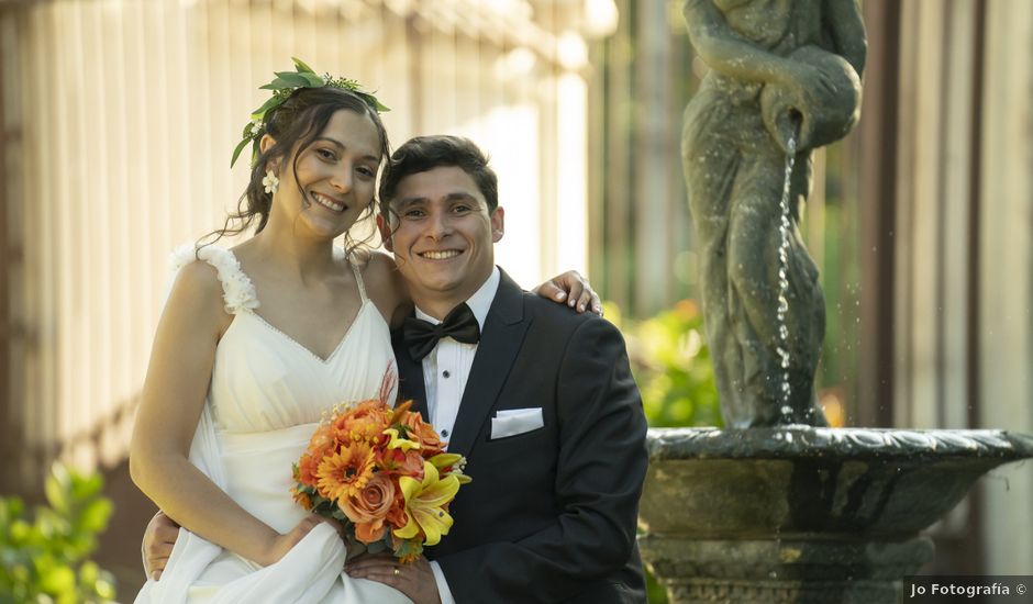
[[[137,602],[409,601],[343,573],[337,527],[289,491],[291,463],[322,413],[375,398],[393,372],[388,325],[408,303],[390,257],[359,254],[347,237],[373,211],[389,153],[385,108],[354,82],[296,63],[300,79],[274,80],[237,147],[254,146],[234,216],[243,224],[215,232],[257,222],[255,235],[232,249],[174,254],[130,471],[184,529]],[[347,251],[334,246],[342,235]],[[540,294],[558,298],[554,282],[571,302],[591,295],[576,273]]]

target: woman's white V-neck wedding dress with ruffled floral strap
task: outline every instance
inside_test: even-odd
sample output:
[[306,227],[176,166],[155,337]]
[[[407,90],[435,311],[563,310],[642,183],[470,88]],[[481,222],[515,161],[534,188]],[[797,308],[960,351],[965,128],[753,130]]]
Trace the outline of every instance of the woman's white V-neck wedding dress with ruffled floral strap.
[[[362,306],[337,348],[322,359],[256,314],[255,288],[232,251],[208,246],[200,259],[215,267],[234,318],[215,349],[190,460],[243,508],[287,533],[307,514],[291,499],[291,465],[323,412],[377,398],[385,371],[395,371],[388,325],[353,265]],[[174,273],[193,260],[193,246],[180,247],[173,254]],[[349,578],[342,572],[344,560],[344,544],[326,524],[268,567],[180,529],[160,581],[147,581],[136,602],[410,602],[392,588]]]

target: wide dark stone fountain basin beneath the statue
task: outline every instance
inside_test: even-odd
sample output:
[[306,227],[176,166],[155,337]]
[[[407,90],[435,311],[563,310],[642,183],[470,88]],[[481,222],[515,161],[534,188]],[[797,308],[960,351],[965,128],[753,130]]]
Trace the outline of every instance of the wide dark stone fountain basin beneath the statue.
[[992,468],[1000,430],[786,426],[649,430],[646,564],[671,603],[896,603],[932,559],[919,532]]

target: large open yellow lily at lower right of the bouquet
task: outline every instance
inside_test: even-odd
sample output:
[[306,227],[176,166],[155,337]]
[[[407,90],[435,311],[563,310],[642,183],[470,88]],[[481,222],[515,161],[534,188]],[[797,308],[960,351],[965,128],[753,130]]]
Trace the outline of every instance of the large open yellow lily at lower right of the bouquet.
[[433,546],[441,541],[452,528],[452,516],[442,507],[456,496],[459,481],[454,476],[440,479],[437,468],[430,461],[423,462],[423,482],[410,477],[398,479],[402,496],[406,497],[406,513],[409,523],[395,529],[395,536],[411,539],[420,529],[426,535],[425,545]]

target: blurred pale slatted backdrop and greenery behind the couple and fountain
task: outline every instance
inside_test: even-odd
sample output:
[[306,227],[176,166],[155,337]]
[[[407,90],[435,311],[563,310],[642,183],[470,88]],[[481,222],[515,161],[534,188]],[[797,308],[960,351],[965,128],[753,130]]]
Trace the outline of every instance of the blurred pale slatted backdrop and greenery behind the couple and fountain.
[[[827,304],[822,403],[836,425],[1033,432],[1033,2],[862,5],[862,120],[817,154],[803,221]],[[125,455],[167,257],[236,206],[231,152],[291,56],[376,90],[396,145],[453,133],[489,150],[499,264],[524,287],[588,275],[653,425],[720,424],[680,163],[707,67],[680,2],[5,0],[5,561],[59,525],[135,595],[154,507]],[[65,524],[32,525],[36,504]],[[931,529],[924,572],[1029,573],[1031,508],[1033,468],[998,470]]]

